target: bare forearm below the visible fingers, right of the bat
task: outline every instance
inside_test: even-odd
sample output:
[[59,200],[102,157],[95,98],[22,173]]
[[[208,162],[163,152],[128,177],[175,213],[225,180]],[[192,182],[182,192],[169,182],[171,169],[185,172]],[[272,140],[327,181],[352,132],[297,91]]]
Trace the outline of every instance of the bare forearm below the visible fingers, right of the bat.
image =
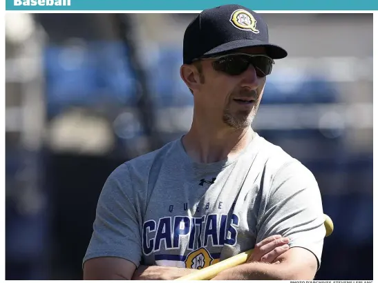
[[248,262],[220,272],[212,280],[289,280],[281,264]]

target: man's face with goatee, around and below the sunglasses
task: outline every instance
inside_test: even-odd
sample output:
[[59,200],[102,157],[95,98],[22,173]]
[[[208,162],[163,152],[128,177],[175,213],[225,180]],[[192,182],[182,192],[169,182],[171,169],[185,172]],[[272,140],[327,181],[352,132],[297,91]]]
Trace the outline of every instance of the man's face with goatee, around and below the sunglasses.
[[[263,48],[243,48],[235,52],[265,54]],[[254,66],[240,75],[228,75],[214,70],[214,59],[201,60],[202,84],[194,94],[196,108],[211,117],[220,117],[223,123],[235,129],[252,124],[263,96],[266,77],[258,77]]]

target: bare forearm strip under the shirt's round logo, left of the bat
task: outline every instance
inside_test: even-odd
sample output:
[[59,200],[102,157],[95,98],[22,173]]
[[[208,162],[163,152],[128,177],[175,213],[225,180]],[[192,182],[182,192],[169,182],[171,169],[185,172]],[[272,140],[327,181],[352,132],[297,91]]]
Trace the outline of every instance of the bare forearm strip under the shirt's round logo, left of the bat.
[[141,265],[134,272],[132,280],[175,280],[178,277],[196,272],[196,269],[185,269],[171,266]]

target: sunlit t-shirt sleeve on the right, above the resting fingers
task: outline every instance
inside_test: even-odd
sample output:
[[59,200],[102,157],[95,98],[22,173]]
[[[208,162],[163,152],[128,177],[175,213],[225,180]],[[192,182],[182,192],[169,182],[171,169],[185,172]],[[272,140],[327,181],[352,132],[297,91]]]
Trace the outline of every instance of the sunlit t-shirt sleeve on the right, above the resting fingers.
[[283,166],[272,179],[259,213],[257,241],[271,235],[290,237],[290,248],[308,249],[321,264],[325,237],[321,193],[314,175],[298,161]]

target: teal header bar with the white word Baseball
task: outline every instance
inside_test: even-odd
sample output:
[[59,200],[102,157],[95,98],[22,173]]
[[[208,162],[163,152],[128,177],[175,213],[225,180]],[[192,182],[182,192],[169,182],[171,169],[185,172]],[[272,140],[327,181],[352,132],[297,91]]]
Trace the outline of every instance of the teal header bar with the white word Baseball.
[[6,0],[6,10],[69,11],[69,10],[205,10],[236,3],[252,10],[378,10],[377,0]]

